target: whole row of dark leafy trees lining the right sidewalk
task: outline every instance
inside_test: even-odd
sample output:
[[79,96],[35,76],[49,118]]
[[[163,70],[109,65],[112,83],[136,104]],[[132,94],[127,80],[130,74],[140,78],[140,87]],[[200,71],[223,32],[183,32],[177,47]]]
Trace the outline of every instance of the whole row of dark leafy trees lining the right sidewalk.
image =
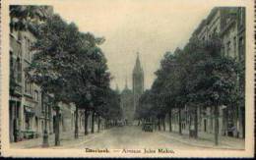
[[[166,52],[150,91],[153,98],[147,99],[142,96],[142,106],[151,103],[153,107],[142,108],[138,111],[140,115],[156,110],[157,117],[160,118],[162,113],[167,111],[171,124],[171,109],[177,108],[181,134],[181,109],[186,106],[190,111],[190,118],[194,119],[197,137],[199,107],[213,106],[215,141],[218,144],[219,107],[236,104],[242,99],[239,96],[236,79],[243,71],[234,59],[222,55],[221,46],[222,41],[218,36],[213,36],[207,41],[193,38],[183,50],[177,48],[174,54]],[[171,130],[170,125],[169,131]]]

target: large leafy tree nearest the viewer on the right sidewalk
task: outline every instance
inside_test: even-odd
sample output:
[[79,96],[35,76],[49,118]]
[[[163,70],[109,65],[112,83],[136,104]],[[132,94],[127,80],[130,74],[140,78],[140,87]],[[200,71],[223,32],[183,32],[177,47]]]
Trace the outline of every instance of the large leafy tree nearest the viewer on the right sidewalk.
[[[215,143],[218,144],[219,107],[237,100],[236,75],[238,65],[234,59],[221,54],[222,42],[218,37],[200,42],[201,46],[187,47],[190,59],[187,88],[188,99],[192,107],[213,106],[215,118]],[[202,55],[203,53],[203,55]],[[197,107],[195,108],[197,111]],[[197,114],[195,114],[197,133]]]

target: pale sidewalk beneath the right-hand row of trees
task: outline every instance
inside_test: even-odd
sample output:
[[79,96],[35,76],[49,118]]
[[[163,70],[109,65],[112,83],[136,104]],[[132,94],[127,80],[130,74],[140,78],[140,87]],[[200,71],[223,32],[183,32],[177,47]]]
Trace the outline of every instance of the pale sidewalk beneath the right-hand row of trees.
[[215,145],[214,133],[198,133],[198,138],[189,137],[188,131],[182,131],[182,135],[174,131],[157,132],[168,138],[172,138],[182,143],[186,143],[192,146],[213,148],[213,149],[234,149],[243,150],[245,149],[245,140],[236,137],[219,135],[219,145]]

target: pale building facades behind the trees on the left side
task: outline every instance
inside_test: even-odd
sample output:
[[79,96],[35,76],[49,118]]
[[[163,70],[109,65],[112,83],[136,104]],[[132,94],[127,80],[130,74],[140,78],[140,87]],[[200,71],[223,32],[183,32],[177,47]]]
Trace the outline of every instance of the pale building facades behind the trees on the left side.
[[[52,7],[43,7],[41,14],[49,17]],[[42,23],[34,16],[36,23]],[[32,63],[32,44],[36,41],[32,28],[16,29],[10,26],[10,99],[9,99],[9,135],[10,141],[41,136],[45,130],[54,133],[55,111],[50,105],[51,95],[41,99],[40,86],[29,79],[26,69]],[[42,105],[43,103],[43,105]],[[60,104],[60,131],[69,131],[70,114],[74,105]]]

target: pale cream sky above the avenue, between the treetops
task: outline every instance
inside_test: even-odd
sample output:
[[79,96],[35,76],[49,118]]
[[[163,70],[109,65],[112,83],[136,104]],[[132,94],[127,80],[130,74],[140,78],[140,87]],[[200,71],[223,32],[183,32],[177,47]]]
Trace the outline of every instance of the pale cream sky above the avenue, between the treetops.
[[[81,2],[81,1],[80,1]],[[166,51],[182,48],[192,32],[213,8],[211,5],[171,0],[112,0],[53,5],[54,12],[81,31],[106,40],[100,48],[116,84],[122,90],[127,78],[132,88],[132,71],[137,52],[145,75],[145,88],[151,88]]]

